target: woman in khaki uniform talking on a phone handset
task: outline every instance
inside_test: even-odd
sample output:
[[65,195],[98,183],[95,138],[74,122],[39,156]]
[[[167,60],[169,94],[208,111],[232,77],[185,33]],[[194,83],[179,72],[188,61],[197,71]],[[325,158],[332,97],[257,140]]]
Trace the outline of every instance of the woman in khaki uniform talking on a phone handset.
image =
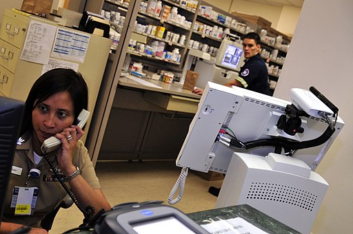
[[[77,117],[87,107],[88,87],[73,70],[50,70],[34,83],[26,100],[1,231],[21,225],[40,228],[41,220],[68,193],[86,221],[101,209],[111,209],[88,150],[79,140],[83,130],[77,126]],[[43,142],[52,136],[61,145],[43,153]]]

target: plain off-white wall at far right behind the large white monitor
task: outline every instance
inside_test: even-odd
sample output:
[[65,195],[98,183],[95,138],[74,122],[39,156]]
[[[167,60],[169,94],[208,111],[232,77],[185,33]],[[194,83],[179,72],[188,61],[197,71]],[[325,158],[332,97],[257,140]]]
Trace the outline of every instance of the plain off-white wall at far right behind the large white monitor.
[[352,67],[353,1],[305,1],[274,96],[314,85],[339,107],[345,127],[316,172],[330,184],[313,233],[350,233],[353,227]]

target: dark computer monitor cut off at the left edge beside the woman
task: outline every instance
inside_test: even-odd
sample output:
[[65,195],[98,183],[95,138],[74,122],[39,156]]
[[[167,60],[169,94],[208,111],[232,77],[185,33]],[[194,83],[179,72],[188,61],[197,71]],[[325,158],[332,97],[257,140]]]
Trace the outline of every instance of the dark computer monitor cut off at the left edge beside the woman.
[[23,110],[23,102],[0,97],[0,220]]

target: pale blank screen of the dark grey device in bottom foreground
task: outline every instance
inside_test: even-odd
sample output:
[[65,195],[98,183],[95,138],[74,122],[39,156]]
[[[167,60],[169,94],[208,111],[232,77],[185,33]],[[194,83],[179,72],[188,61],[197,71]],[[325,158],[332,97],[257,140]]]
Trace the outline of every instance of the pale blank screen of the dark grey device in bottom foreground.
[[194,231],[173,216],[132,224],[132,228],[139,234],[194,234]]

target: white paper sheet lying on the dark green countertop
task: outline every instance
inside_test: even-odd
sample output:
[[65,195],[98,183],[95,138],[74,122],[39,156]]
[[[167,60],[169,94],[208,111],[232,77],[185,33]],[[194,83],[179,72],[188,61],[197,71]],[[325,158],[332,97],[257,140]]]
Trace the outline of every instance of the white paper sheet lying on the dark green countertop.
[[234,217],[230,220],[219,220],[201,226],[211,234],[266,234],[265,231],[243,220],[241,217]]

